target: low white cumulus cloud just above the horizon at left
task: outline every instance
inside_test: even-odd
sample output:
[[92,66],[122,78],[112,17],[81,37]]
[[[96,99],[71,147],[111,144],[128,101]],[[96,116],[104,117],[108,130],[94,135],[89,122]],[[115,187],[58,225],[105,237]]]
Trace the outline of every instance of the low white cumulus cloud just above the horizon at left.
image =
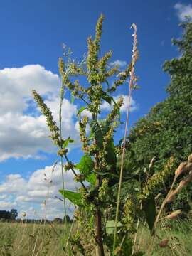
[[[71,171],[65,172],[65,189],[76,191],[79,183],[73,181]],[[0,205],[4,210],[17,208],[20,216],[23,211],[27,213],[27,218],[42,218],[46,213],[46,218],[63,218],[63,203],[58,193],[62,188],[62,176],[60,164],[46,166],[38,169],[28,178],[23,178],[21,174],[9,174],[6,181],[0,185]],[[43,203],[46,200],[46,204]],[[73,206],[67,201],[68,214],[73,212]],[[45,209],[46,208],[46,209]],[[35,213],[36,212],[36,213]],[[34,216],[36,214],[36,216]]]

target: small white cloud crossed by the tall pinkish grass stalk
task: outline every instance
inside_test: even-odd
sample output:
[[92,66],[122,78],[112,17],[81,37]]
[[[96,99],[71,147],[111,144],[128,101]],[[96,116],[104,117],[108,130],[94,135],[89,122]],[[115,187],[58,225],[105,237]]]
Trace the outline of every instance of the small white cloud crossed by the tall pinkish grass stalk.
[[[124,102],[122,107],[120,108],[120,112],[126,112],[127,111],[129,97],[127,95],[118,95],[118,96],[114,96],[114,100],[117,102],[117,100],[119,99],[120,96],[123,97],[123,102]],[[112,103],[112,105],[114,105],[114,103]],[[106,110],[106,111],[110,111],[111,108],[112,108],[112,105],[110,105],[107,102],[103,102],[102,106],[101,106],[101,109],[102,110]],[[134,110],[137,110],[137,104],[133,100],[133,98],[131,97],[130,111],[133,112]]]

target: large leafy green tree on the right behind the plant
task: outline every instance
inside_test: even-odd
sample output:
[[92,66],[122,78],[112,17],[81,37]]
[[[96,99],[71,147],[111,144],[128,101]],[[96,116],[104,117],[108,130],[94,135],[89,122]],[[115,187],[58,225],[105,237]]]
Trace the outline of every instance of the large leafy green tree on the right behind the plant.
[[[166,60],[164,71],[171,82],[166,89],[168,97],[139,119],[127,138],[125,169],[127,174],[137,181],[146,181],[146,176],[163,171],[171,161],[170,170],[164,176],[164,182],[155,188],[154,194],[166,193],[174,169],[186,160],[192,151],[192,22],[187,18],[180,24],[183,36],[172,42],[178,46],[180,58]],[[156,157],[153,166],[149,163]],[[175,206],[189,209],[192,199],[191,186],[188,186],[177,198]]]

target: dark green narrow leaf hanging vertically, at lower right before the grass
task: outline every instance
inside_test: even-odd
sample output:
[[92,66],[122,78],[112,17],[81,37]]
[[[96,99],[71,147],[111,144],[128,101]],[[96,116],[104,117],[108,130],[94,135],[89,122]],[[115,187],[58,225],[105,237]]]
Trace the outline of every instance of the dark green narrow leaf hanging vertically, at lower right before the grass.
[[156,205],[154,196],[151,196],[151,198],[146,199],[146,201],[144,201],[143,210],[146,216],[146,222],[149,225],[149,229],[152,235],[152,230],[156,218]]

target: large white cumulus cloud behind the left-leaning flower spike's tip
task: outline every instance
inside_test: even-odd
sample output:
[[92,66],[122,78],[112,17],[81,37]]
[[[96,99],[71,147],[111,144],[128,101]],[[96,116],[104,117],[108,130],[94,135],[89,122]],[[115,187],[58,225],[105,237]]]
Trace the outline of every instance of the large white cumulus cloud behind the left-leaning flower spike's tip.
[[[46,97],[46,104],[58,120],[58,75],[41,65],[0,70],[0,161],[14,158],[38,158],[38,151],[53,152],[46,137],[50,133],[46,119],[36,108],[31,90]],[[73,116],[77,109],[68,100],[63,101],[63,134],[73,134],[78,141]]]

